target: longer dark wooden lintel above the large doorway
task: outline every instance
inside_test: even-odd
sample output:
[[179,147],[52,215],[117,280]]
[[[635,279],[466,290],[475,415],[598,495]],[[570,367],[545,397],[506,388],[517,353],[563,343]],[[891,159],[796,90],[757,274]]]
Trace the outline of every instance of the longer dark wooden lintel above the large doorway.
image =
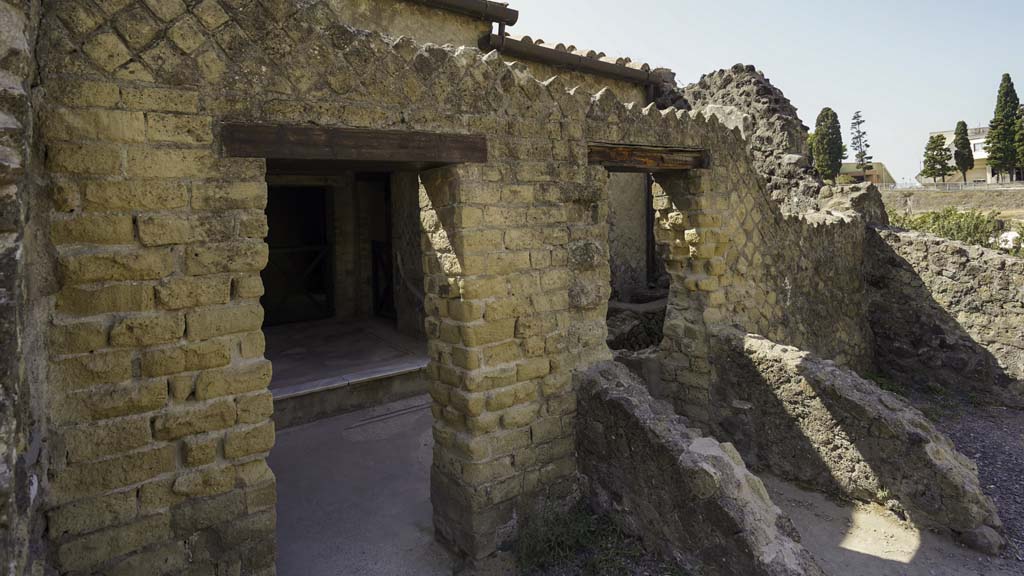
[[220,136],[232,158],[430,166],[487,161],[487,138],[475,134],[225,123]]

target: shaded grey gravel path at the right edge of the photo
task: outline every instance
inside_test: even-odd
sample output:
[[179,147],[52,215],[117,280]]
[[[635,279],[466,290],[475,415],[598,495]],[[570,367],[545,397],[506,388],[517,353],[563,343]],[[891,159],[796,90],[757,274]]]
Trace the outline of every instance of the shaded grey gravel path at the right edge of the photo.
[[1024,562],[1024,411],[962,404],[939,414],[939,429],[978,462],[982,487],[1006,527],[1006,556]]

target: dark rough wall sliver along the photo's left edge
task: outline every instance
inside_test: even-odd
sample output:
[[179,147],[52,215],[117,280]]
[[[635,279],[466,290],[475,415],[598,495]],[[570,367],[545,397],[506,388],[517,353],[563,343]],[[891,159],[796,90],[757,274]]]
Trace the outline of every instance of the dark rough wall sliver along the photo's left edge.
[[38,568],[42,522],[39,483],[45,386],[32,383],[42,335],[35,328],[27,271],[36,254],[29,220],[44,203],[38,187],[31,89],[36,78],[38,2],[0,2],[0,566],[9,574]]

